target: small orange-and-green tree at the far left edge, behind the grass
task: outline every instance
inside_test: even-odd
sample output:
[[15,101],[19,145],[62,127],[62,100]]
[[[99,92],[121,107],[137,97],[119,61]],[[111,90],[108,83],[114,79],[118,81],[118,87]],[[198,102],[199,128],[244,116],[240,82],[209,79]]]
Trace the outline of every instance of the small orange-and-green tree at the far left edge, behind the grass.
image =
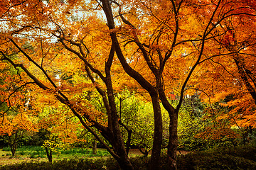
[[1,62],[0,79],[0,135],[8,137],[8,145],[14,157],[19,142],[30,132],[37,132],[36,110],[30,103],[26,83],[19,77],[19,69]]

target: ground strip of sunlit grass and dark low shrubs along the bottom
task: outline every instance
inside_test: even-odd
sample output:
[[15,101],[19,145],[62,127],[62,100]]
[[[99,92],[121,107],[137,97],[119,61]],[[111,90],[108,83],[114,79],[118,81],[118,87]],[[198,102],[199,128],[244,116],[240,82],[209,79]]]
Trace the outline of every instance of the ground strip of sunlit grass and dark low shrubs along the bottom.
[[[166,152],[166,150],[163,149],[163,152]],[[85,166],[87,169],[118,169],[117,162],[114,162],[113,159],[108,159],[110,154],[107,153],[106,149],[97,149],[97,154],[95,155],[92,154],[92,149],[69,148],[68,150],[63,150],[59,155],[53,154],[53,164],[48,163],[45,150],[41,147],[22,147],[17,153],[17,157],[11,157],[11,152],[7,148],[0,149],[0,169],[34,170],[34,167],[40,167],[40,169],[43,167],[42,169],[48,170],[59,169],[61,166],[65,170],[73,170],[74,165],[78,164]],[[180,170],[256,169],[255,145],[218,147],[200,152],[178,151],[177,154],[183,154],[182,157],[177,157],[177,166]],[[139,149],[130,150],[129,157],[131,157],[134,167],[146,169],[149,157],[139,157],[138,159],[136,156],[140,155],[143,154],[139,152]],[[163,154],[162,158],[161,169],[166,169],[166,167],[168,168],[165,159],[166,154]],[[6,164],[8,165],[4,166]]]

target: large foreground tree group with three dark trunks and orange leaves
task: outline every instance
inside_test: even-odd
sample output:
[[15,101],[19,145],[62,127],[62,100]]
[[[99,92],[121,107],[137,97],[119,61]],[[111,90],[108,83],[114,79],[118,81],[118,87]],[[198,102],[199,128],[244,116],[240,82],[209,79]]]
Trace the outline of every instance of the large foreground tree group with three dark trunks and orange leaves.
[[[112,80],[119,74],[114,68],[126,72],[151,98],[154,142],[149,169],[160,166],[163,135],[160,102],[169,113],[169,167],[176,169],[178,112],[183,96],[191,94],[190,89],[200,89],[203,84],[197,84],[198,75],[212,73],[213,68],[208,64],[213,58],[230,53],[215,46],[216,40],[224,36],[223,31],[219,32],[220,26],[233,17],[255,17],[247,1],[232,0],[9,2],[1,4],[1,21],[7,26],[1,30],[4,33],[1,34],[1,59],[21,67],[42,91],[70,107],[82,125],[105,145],[90,125],[100,130],[114,150],[105,147],[122,169],[133,168],[114,103]],[[30,42],[33,49],[24,48],[25,42]],[[8,49],[16,49],[23,60],[11,60]],[[66,67],[67,62],[70,67]],[[86,74],[92,84],[79,79],[72,85],[62,81],[58,86],[56,73],[73,72]],[[106,114],[95,112],[105,116],[101,120],[92,114],[95,109],[88,109],[93,107],[82,98],[73,97],[78,90],[89,87],[94,87],[102,96]],[[175,108],[169,101],[173,95],[179,96]]]

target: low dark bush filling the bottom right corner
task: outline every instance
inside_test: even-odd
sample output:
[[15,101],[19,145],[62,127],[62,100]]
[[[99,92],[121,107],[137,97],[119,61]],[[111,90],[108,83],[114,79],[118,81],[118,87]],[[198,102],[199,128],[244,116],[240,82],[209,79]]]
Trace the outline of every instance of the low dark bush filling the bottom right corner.
[[178,157],[178,169],[256,169],[255,147],[220,148]]

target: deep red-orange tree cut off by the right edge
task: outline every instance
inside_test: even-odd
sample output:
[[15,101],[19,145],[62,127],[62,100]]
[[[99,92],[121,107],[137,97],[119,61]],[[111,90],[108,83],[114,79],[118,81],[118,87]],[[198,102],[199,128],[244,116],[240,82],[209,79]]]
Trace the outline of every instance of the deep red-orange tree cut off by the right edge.
[[210,72],[198,74],[196,87],[208,94],[202,95],[206,101],[210,98],[213,103],[220,101],[229,107],[229,112],[220,119],[230,119],[230,124],[237,127],[252,128],[255,127],[255,2],[240,1],[238,5],[241,4],[215,29],[213,44],[218,49],[205,60]]

